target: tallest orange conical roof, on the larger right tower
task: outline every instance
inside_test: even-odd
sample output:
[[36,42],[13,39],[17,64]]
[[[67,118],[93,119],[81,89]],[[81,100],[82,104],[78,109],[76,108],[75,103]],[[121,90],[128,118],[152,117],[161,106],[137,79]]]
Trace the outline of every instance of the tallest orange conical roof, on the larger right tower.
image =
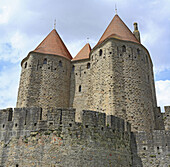
[[118,15],[114,16],[113,20],[105,30],[104,34],[100,38],[97,45],[102,43],[105,39],[111,37],[120,40],[139,43],[139,41],[136,39],[136,37],[133,35],[133,33],[130,31],[130,29],[126,26],[126,24],[121,20],[121,18]]

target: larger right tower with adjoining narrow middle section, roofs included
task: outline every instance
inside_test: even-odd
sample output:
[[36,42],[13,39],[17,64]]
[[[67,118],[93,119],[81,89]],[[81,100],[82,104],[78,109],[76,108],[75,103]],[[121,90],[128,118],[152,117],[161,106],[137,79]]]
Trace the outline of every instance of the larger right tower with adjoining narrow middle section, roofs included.
[[154,129],[153,65],[139,31],[137,39],[115,15],[89,56],[85,48],[72,60],[72,106],[126,119],[133,131]]

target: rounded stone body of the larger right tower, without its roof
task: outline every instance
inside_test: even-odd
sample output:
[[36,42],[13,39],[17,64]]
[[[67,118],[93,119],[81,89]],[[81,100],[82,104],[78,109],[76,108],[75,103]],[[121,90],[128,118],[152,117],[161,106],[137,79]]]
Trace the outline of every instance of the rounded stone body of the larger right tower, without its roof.
[[[89,63],[90,75],[82,79],[89,92],[87,98],[75,91],[75,97],[82,97],[85,103],[87,100],[84,108],[126,119],[133,131],[153,130],[156,95],[152,62],[146,49],[109,39],[92,50]],[[76,65],[86,67],[81,61]],[[81,107],[81,103],[76,107]]]

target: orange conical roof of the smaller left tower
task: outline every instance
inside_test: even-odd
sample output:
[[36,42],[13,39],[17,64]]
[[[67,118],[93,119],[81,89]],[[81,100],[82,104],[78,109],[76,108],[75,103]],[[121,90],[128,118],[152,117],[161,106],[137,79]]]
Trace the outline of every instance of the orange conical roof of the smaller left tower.
[[58,55],[72,59],[71,54],[55,29],[47,35],[33,52]]

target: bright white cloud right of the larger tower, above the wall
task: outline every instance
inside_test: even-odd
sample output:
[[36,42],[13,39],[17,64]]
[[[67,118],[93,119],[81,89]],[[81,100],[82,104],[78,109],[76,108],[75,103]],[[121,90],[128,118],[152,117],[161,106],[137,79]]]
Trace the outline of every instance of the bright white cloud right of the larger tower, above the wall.
[[170,80],[156,81],[155,86],[158,106],[164,111],[164,106],[170,106]]

